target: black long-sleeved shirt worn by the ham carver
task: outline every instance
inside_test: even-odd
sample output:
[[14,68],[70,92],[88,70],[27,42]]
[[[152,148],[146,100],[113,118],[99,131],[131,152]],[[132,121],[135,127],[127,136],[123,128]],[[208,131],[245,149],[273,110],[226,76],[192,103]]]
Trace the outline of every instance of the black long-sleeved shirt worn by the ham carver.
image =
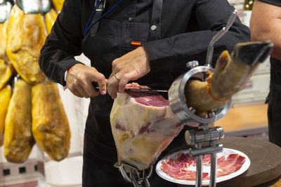
[[[117,0],[107,0],[105,11],[116,3]],[[151,6],[152,0],[124,0],[105,18],[128,23],[129,18],[131,22],[150,22]],[[86,53],[87,49],[82,51],[81,41],[93,8],[94,1],[66,0],[41,50],[41,69],[46,76],[61,85],[65,85],[65,71],[78,63],[73,56]],[[195,60],[195,57],[204,63],[209,41],[226,25],[231,9],[226,0],[164,1],[162,39],[143,43],[150,55],[152,68],[154,64],[162,66],[169,62],[188,62]],[[220,53],[224,49],[231,51],[236,43],[249,39],[249,29],[237,18],[216,46],[221,47]],[[217,54],[214,56],[217,57]]]

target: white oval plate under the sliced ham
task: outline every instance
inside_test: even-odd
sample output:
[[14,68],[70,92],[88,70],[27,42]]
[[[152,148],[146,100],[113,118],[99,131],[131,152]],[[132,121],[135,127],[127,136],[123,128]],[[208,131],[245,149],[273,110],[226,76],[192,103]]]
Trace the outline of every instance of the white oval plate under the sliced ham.
[[[179,151],[178,151],[179,152]],[[165,172],[162,171],[162,169],[160,168],[162,165],[162,162],[164,162],[166,160],[167,157],[169,158],[174,158],[174,156],[176,156],[176,154],[178,153],[172,153],[171,155],[166,156],[165,158],[163,158],[162,160],[160,160],[157,165],[156,165],[156,172],[159,176],[161,176],[163,179],[167,180],[167,181],[171,181],[173,183],[180,183],[180,184],[185,184],[185,185],[195,185],[195,181],[191,181],[191,180],[183,180],[183,179],[174,179],[173,177],[169,176],[168,174],[166,174]],[[183,151],[183,153],[188,153],[188,150]],[[235,149],[231,149],[231,148],[223,148],[223,151],[221,153],[217,153],[217,157],[219,158],[221,155],[225,155],[228,156],[230,154],[239,154],[244,156],[244,158],[246,158],[245,162],[243,163],[242,167],[240,167],[240,169],[238,169],[236,172],[232,173],[232,174],[228,174],[225,176],[220,176],[216,178],[216,182],[221,182],[221,181],[226,181],[228,179],[232,179],[235,176],[238,176],[242,173],[244,173],[250,166],[251,161],[249,160],[249,158],[247,157],[247,155],[245,155],[244,153],[242,153],[241,151],[237,151]],[[196,167],[193,167],[192,169],[193,171],[196,171]],[[202,171],[203,172],[208,172],[210,173],[210,166],[204,166],[202,167]],[[209,180],[203,180],[202,181],[202,185],[209,185]]]

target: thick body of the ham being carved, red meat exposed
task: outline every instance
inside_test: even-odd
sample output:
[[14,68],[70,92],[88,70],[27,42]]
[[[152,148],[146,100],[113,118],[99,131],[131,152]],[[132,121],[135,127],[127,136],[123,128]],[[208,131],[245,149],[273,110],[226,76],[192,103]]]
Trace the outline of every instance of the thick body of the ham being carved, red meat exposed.
[[[148,88],[136,83],[126,88]],[[118,93],[110,113],[119,161],[139,170],[154,164],[183,128],[157,92],[126,90]]]

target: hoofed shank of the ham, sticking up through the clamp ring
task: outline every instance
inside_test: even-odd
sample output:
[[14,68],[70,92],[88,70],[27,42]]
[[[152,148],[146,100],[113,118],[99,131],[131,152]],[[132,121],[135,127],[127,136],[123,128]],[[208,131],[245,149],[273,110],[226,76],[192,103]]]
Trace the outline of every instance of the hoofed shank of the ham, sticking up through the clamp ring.
[[223,51],[216,62],[214,74],[207,81],[188,81],[185,87],[187,105],[192,106],[199,116],[225,106],[232,95],[244,88],[254,70],[270,55],[272,48],[273,43],[270,41],[247,42],[237,43],[231,56]]

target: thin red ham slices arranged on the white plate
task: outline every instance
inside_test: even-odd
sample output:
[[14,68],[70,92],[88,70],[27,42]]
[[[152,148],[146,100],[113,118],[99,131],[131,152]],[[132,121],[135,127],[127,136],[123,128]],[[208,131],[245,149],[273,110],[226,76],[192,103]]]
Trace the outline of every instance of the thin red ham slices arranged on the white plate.
[[[246,158],[238,154],[221,155],[217,158],[217,177],[226,176],[237,172],[244,164]],[[211,165],[211,156],[204,155],[202,160],[203,167]],[[163,172],[174,179],[192,180],[196,179],[196,158],[188,153],[180,151],[174,157],[168,157],[162,162],[160,167]],[[202,173],[202,180],[209,180],[208,172]]]

